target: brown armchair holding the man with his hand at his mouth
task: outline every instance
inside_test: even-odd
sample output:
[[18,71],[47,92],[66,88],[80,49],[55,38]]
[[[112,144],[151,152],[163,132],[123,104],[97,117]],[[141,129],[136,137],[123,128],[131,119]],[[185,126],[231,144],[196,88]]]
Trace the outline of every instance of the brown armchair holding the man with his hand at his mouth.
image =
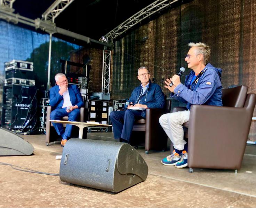
[[[85,97],[82,96],[83,98],[83,103],[85,104],[83,107],[80,108],[80,117],[78,119],[78,121],[80,122],[86,122],[88,119],[88,106],[89,103],[88,101],[85,101]],[[53,124],[50,122],[50,113],[51,113],[51,106],[47,107],[47,114],[46,114],[46,135],[45,135],[45,143],[46,146],[49,146],[49,143],[51,142],[55,142],[55,141],[61,141],[62,138],[61,136],[59,136],[56,132],[56,130],[53,127]],[[62,118],[63,120],[68,120],[67,116],[64,116]],[[66,124],[63,124],[64,127],[66,127]],[[79,134],[79,128],[76,126],[73,126],[73,130],[72,130],[72,137],[78,138],[78,134]],[[87,137],[87,128],[83,129],[83,139],[86,139]]]

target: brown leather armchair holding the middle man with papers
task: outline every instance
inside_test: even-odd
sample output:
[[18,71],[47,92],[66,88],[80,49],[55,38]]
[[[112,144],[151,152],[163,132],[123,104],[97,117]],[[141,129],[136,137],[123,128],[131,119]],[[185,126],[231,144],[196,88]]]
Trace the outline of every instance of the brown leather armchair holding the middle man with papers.
[[162,114],[170,113],[171,101],[166,101],[164,109],[146,109],[146,119],[134,123],[130,144],[145,146],[145,154],[149,150],[162,150],[167,148],[167,135],[159,123]]

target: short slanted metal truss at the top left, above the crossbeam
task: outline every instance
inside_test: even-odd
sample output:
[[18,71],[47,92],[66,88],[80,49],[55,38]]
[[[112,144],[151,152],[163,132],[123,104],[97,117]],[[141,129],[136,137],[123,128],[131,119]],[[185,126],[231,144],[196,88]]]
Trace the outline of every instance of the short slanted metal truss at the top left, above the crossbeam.
[[56,0],[45,12],[42,14],[42,19],[52,21],[66,9],[74,0]]

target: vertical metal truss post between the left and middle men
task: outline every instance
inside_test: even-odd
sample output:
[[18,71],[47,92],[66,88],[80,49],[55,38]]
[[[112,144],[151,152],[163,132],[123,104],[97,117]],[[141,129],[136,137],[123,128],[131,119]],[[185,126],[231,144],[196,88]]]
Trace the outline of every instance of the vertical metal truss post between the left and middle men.
[[102,64],[102,92],[109,93],[110,88],[110,65],[111,65],[111,51],[103,50],[103,64]]

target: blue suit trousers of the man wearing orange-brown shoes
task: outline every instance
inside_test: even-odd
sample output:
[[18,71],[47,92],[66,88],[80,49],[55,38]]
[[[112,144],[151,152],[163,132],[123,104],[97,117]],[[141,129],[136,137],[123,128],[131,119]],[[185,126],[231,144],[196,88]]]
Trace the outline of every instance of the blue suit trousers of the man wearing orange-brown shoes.
[[[67,108],[64,107],[61,109],[55,109],[55,110],[51,111],[50,119],[51,120],[61,120],[64,116],[68,116],[69,117],[68,121],[77,121],[77,118],[80,115],[80,109],[75,109],[75,110],[71,111],[70,113],[68,113],[66,111],[66,109]],[[62,137],[62,139],[67,139],[68,137],[71,137],[73,125],[67,124],[65,131],[64,131],[63,124],[61,124],[61,123],[53,123],[53,126],[54,126],[56,132],[58,133],[58,135],[60,135]]]

